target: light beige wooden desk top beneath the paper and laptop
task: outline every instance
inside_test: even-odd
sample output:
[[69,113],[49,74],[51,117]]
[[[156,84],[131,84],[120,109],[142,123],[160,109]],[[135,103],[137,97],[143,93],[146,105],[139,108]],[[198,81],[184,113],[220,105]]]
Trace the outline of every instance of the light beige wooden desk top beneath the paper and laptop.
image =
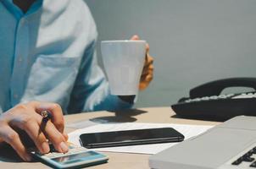
[[[65,116],[65,123],[75,123],[79,121],[92,120],[93,122],[139,122],[139,123],[180,123],[180,124],[198,124],[198,125],[216,125],[217,122],[190,120],[175,117],[175,112],[170,107],[148,107],[125,112],[89,112]],[[75,128],[66,128],[69,133]],[[1,151],[1,150],[0,150]],[[109,156],[109,162],[103,165],[91,166],[89,168],[106,169],[142,169],[149,168],[149,155],[131,154],[131,153],[111,153],[103,152]],[[39,162],[0,162],[0,168],[48,168]]]

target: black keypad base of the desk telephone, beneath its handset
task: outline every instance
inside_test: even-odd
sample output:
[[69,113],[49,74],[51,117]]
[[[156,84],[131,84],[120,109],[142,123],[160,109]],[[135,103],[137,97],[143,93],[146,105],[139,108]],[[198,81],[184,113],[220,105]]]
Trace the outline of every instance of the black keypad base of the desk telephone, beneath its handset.
[[171,106],[181,117],[227,120],[239,115],[255,116],[256,91],[247,93],[209,95],[198,98],[182,98]]

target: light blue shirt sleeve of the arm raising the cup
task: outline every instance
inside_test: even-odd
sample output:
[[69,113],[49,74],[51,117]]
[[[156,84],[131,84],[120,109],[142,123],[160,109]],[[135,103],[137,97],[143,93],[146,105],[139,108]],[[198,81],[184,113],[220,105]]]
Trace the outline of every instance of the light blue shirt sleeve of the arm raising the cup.
[[110,95],[109,83],[97,64],[96,40],[86,47],[81,59],[81,68],[70,95],[68,112],[116,111],[131,108],[133,104]]

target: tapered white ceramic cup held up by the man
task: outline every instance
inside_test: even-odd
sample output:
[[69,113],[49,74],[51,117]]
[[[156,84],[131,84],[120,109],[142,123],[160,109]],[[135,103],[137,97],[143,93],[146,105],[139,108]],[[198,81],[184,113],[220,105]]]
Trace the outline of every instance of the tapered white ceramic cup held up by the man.
[[137,95],[146,41],[102,41],[103,65],[112,95]]

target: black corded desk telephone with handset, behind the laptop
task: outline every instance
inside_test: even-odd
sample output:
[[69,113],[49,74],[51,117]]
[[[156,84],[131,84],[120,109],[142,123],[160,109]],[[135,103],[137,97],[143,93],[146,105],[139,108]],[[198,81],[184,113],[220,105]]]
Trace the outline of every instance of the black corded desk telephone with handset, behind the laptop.
[[[254,91],[220,95],[228,87],[250,87]],[[214,118],[221,121],[238,115],[256,116],[256,78],[231,78],[209,82],[190,90],[172,109],[178,116]]]

